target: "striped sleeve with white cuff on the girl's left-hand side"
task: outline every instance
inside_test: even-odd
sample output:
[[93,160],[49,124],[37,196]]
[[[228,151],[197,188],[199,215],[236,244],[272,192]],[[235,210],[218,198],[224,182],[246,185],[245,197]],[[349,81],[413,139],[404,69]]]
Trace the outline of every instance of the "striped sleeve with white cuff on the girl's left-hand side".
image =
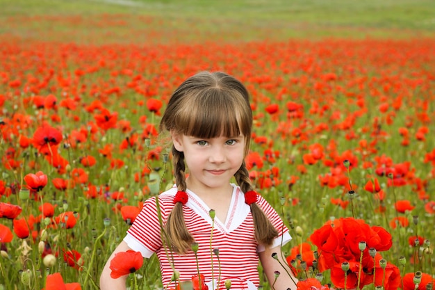
[[132,250],[141,252],[145,258],[151,257],[162,246],[161,228],[166,223],[168,212],[164,198],[158,197],[158,204],[162,222],[159,219],[156,198],[149,198],[124,237],[127,245]]

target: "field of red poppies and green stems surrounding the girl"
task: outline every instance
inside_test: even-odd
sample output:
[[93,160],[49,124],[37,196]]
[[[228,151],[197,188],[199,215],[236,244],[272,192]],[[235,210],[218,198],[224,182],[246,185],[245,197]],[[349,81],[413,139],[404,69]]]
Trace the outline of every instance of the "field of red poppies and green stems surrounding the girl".
[[[251,94],[247,168],[290,229],[282,255],[299,289],[432,289],[435,38],[237,40],[235,29],[226,41],[195,28],[183,41],[171,35],[186,28],[154,29],[160,16],[8,17],[38,38],[0,35],[0,289],[99,289],[142,202],[172,186],[158,124],[202,70]],[[133,42],[141,33],[149,42]],[[135,254],[113,275],[164,287],[158,261]]]

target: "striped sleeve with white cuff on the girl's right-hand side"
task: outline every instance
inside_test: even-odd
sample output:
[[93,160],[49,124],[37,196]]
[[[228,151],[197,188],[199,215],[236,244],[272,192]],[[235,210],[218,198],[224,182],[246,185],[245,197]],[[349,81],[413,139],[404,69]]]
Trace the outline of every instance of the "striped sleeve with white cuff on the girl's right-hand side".
[[[274,248],[278,245],[284,245],[288,243],[288,241],[290,241],[292,237],[290,236],[288,228],[286,227],[286,225],[284,225],[284,222],[277,213],[277,211],[275,211],[274,208],[269,204],[269,202],[265,200],[262,196],[258,196],[257,204],[264,211],[266,216],[268,216],[270,222],[279,233],[279,236],[274,239],[272,245],[270,245],[270,248]],[[258,252],[263,252],[264,250],[264,245],[258,245]]]

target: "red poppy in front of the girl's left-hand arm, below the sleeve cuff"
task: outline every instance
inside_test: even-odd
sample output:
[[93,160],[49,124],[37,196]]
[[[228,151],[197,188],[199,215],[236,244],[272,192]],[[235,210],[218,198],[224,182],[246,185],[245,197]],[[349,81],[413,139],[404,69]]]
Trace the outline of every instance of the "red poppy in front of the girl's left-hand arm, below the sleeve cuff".
[[143,264],[143,257],[140,252],[127,250],[126,252],[117,252],[115,257],[110,261],[110,277],[113,279],[124,275],[129,275],[138,271]]

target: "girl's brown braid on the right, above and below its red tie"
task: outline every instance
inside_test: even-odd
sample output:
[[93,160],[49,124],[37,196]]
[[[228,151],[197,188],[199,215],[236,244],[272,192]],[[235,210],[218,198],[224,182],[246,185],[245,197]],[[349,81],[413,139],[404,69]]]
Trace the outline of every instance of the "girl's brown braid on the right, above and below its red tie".
[[[252,191],[252,184],[249,179],[249,172],[245,166],[245,161],[243,161],[242,166],[240,166],[234,177],[244,193]],[[279,236],[277,229],[275,229],[268,216],[266,216],[264,211],[258,207],[256,202],[252,203],[250,207],[252,218],[254,219],[256,240],[258,243],[262,243],[263,245],[272,245],[273,240]]]

